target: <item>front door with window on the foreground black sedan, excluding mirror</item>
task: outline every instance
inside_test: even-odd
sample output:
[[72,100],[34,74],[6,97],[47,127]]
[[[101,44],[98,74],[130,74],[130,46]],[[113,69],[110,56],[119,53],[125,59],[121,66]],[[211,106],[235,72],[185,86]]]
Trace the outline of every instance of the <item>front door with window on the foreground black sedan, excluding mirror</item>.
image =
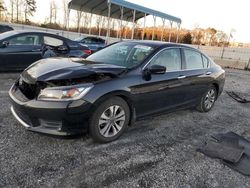
[[181,50],[165,49],[158,53],[147,65],[166,67],[165,74],[152,74],[151,80],[142,79],[138,89],[138,116],[169,110],[185,103],[186,88],[183,87]]

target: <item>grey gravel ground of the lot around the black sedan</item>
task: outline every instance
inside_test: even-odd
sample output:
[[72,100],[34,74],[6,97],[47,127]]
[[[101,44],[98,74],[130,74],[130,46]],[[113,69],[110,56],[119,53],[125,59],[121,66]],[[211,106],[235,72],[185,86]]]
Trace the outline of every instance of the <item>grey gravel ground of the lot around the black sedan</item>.
[[[226,72],[226,91],[250,95],[250,72]],[[250,104],[225,92],[209,113],[191,109],[145,119],[118,141],[100,145],[88,135],[26,131],[9,110],[7,91],[16,77],[0,75],[0,187],[250,187],[250,177],[196,152],[217,132],[250,139]]]

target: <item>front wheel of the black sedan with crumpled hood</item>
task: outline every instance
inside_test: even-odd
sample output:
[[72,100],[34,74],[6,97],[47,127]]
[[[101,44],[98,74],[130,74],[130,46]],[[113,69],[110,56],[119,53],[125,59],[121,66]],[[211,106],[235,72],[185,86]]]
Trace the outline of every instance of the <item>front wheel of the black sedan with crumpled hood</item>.
[[90,135],[96,142],[107,143],[118,139],[127,129],[130,110],[120,97],[110,98],[101,103],[90,118]]

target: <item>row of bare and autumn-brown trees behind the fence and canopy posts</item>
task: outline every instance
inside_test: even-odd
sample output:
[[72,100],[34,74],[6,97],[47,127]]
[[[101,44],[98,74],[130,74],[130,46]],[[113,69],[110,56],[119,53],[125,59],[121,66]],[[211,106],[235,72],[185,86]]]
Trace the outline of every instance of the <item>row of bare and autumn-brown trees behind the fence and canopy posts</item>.
[[[41,26],[52,29],[62,29],[79,33],[88,33],[93,35],[105,36],[107,32],[107,18],[99,15],[91,15],[80,11],[71,11],[70,27],[67,28],[68,20],[68,2],[69,0],[60,1],[61,7],[55,0],[49,4],[49,15],[45,17],[43,23],[32,22],[32,16],[36,12],[36,0],[9,0],[7,7],[4,0],[0,0],[0,21],[10,21],[12,23],[22,23],[34,26]],[[63,15],[63,17],[61,16]],[[123,21],[123,27],[120,28],[120,21],[111,19],[111,37],[131,38],[132,30],[128,22]],[[134,39],[151,40],[154,32],[154,40],[161,40],[162,27],[146,27],[142,29],[142,23],[135,24]],[[153,31],[154,30],[154,31]],[[144,33],[144,34],[143,34]],[[144,35],[144,36],[142,36]],[[225,46],[229,45],[229,36],[223,31],[215,28],[196,27],[192,30],[176,28],[165,28],[163,40],[185,44]]]

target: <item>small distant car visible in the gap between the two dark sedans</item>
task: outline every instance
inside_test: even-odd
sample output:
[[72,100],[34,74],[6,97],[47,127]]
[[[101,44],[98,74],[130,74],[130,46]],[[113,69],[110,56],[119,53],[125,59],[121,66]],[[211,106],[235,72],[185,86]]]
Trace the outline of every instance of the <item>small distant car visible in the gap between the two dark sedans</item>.
[[97,52],[106,46],[106,41],[99,37],[80,37],[75,39],[75,41],[87,46],[92,53]]

